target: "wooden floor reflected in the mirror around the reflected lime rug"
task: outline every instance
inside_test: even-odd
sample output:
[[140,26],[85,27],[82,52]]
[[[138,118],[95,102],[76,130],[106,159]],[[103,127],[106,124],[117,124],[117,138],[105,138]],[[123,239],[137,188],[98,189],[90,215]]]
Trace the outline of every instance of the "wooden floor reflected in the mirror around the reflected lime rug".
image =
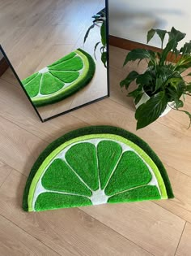
[[[92,23],[91,16],[103,7],[104,0],[0,1],[0,42],[19,78],[23,80],[77,48],[93,55],[94,46],[100,41],[100,28],[91,31],[85,46],[83,37]],[[9,17],[7,23],[5,17]],[[107,94],[107,72],[98,60],[89,85],[38,111],[42,119],[47,119]]]

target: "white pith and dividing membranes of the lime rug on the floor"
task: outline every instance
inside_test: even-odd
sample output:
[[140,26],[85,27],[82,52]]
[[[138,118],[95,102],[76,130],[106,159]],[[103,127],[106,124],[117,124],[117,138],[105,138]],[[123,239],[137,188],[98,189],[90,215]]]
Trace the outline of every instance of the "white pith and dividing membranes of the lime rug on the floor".
[[[106,189],[109,181],[111,180],[112,178],[112,175],[113,173],[116,171],[117,169],[117,166],[118,166],[118,163],[121,161],[121,157],[119,157],[118,161],[117,161],[117,164],[116,166],[113,168],[112,170],[112,173],[111,175],[109,176],[108,178],[108,181],[107,183],[105,184],[105,187],[104,189],[97,189],[96,191],[92,190],[85,182],[84,180],[79,176],[79,174],[74,171],[74,169],[72,167],[70,167],[70,164],[66,161],[66,158],[65,158],[65,155],[66,155],[66,152],[68,150],[70,150],[71,147],[73,147],[74,145],[78,145],[78,144],[81,144],[81,143],[91,143],[93,145],[96,146],[96,149],[97,149],[97,145],[100,143],[100,141],[113,141],[113,142],[116,142],[118,145],[121,145],[121,149],[122,149],[122,152],[121,152],[121,156],[122,154],[124,154],[126,151],[133,151],[135,154],[138,155],[139,158],[142,159],[142,162],[146,165],[146,167],[148,168],[148,170],[150,171],[151,173],[151,181],[148,183],[148,184],[144,184],[144,185],[139,185],[137,187],[134,187],[132,189],[126,189],[124,191],[121,191],[121,192],[117,192],[117,193],[113,193],[111,196],[107,196],[105,193],[104,193],[104,189]],[[97,157],[97,155],[96,155]],[[53,163],[53,161],[57,158],[60,158],[62,159],[63,161],[66,162],[66,164],[70,167],[70,169],[74,172],[74,175],[76,175],[79,180],[87,187],[87,189],[89,189],[92,193],[91,197],[88,197],[88,196],[85,196],[85,195],[81,195],[81,194],[77,194],[77,193],[66,193],[66,192],[58,192],[58,191],[53,191],[53,190],[48,190],[48,189],[45,189],[42,185],[42,177],[44,176],[45,174],[45,171],[49,168],[49,166]],[[98,163],[98,158],[97,158],[97,163]],[[144,187],[144,186],[147,186],[147,185],[153,185],[153,186],[156,186],[158,191],[159,191],[159,194],[161,195],[161,191],[159,189],[159,184],[158,184],[158,181],[155,177],[155,173],[154,171],[152,170],[152,168],[149,166],[148,163],[146,163],[146,161],[141,157],[141,155],[138,154],[137,151],[135,151],[133,148],[131,148],[129,145],[126,145],[125,143],[121,142],[121,141],[115,141],[115,140],[112,140],[112,139],[103,139],[103,138],[98,138],[98,139],[88,139],[88,140],[85,140],[85,141],[78,141],[78,142],[74,142],[72,143],[71,145],[68,145],[64,150],[62,150],[62,152],[60,154],[57,154],[56,157],[54,157],[52,159],[52,161],[49,163],[49,165],[45,168],[45,171],[43,171],[43,173],[41,174],[40,176],[40,179],[39,181],[37,182],[36,184],[36,190],[35,190],[35,193],[34,193],[34,197],[33,197],[33,200],[32,200],[32,209],[35,211],[35,203],[36,203],[36,199],[37,197],[41,194],[41,193],[59,193],[59,194],[65,194],[65,195],[73,195],[73,196],[79,196],[79,197],[85,197],[85,198],[88,198],[89,200],[91,200],[91,203],[92,205],[100,205],[100,204],[104,204],[104,203],[107,203],[108,202],[108,199],[109,197],[112,197],[114,195],[117,195],[117,194],[121,194],[121,193],[125,193],[125,192],[128,192],[130,190],[134,190],[134,189],[138,189],[138,188],[141,188],[141,187]],[[99,171],[99,170],[98,170]],[[100,176],[99,177],[99,184],[100,184]]]

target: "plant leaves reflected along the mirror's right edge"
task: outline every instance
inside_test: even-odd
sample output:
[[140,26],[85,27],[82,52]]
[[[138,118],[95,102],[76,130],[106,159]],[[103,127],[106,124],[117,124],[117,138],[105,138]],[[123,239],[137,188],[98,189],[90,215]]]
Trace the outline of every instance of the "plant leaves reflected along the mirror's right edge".
[[87,29],[87,33],[85,34],[83,43],[87,41],[87,37],[89,36],[89,33],[91,32],[92,28],[95,28],[100,24],[100,37],[101,40],[96,42],[95,48],[94,48],[94,55],[96,58],[96,50],[98,46],[100,46],[100,52],[101,52],[101,61],[104,63],[104,67],[107,67],[107,33],[106,33],[106,13],[105,9],[100,11],[97,15],[94,15],[92,17],[94,20],[91,24],[91,26]]

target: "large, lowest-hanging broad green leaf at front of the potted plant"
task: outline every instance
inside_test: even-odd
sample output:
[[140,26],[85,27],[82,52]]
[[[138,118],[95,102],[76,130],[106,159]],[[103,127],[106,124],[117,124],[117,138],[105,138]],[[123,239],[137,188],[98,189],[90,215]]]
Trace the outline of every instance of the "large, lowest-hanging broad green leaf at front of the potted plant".
[[162,91],[139,106],[135,113],[135,118],[138,120],[137,129],[144,128],[158,119],[167,104],[167,95]]

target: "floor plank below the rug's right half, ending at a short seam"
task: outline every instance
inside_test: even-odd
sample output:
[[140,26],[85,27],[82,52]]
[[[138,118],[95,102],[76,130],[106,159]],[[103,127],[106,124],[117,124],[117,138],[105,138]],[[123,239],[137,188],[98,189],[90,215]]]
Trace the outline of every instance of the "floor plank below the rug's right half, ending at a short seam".
[[174,255],[185,225],[184,220],[153,202],[85,207],[82,210],[155,255]]

